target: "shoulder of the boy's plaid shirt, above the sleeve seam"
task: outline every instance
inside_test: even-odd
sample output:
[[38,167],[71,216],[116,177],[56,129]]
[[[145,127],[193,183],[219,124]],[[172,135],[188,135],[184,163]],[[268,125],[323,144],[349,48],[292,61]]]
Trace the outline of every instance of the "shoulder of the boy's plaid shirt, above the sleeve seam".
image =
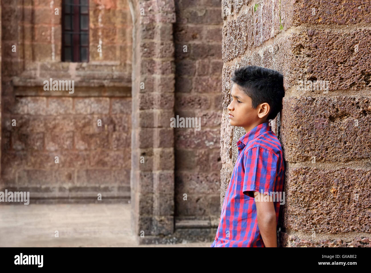
[[247,154],[249,149],[256,147],[266,149],[276,156],[282,157],[281,143],[273,131],[263,132],[258,137],[249,141],[246,145],[245,153]]

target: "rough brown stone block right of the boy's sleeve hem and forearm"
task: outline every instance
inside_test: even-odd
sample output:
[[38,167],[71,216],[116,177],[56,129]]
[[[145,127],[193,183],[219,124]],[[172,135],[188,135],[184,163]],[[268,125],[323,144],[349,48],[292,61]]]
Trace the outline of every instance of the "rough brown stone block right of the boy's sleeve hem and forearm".
[[285,181],[285,227],[316,233],[371,233],[371,171],[291,167]]

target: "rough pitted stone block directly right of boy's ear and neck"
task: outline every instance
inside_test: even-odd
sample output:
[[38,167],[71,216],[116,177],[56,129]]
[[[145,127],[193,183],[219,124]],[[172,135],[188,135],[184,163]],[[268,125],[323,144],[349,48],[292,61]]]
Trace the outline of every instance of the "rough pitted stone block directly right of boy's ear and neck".
[[[282,144],[289,162],[368,159],[369,98],[284,98]],[[313,159],[315,157],[315,159]]]

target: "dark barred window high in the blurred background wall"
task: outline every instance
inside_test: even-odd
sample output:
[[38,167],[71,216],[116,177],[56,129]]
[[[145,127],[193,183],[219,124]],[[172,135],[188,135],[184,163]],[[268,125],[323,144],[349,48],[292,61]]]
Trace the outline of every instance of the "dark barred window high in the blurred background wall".
[[89,1],[62,1],[62,62],[89,62]]

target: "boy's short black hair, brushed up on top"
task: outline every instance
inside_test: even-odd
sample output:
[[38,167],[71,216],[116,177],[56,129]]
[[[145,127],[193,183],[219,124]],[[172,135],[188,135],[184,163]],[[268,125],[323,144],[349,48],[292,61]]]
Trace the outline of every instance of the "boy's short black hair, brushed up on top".
[[267,121],[276,118],[282,109],[282,98],[285,96],[281,73],[261,66],[247,65],[234,70],[231,80],[251,98],[253,108],[263,102],[269,104]]

